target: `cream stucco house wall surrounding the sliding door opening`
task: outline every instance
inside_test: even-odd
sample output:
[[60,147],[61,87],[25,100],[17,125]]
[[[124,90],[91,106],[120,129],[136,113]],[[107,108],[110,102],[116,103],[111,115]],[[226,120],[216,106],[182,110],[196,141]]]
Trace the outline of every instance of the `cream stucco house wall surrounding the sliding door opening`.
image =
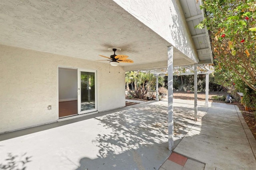
[[98,70],[98,111],[125,106],[122,67],[6,45],[0,54],[0,133],[58,119],[58,65]]

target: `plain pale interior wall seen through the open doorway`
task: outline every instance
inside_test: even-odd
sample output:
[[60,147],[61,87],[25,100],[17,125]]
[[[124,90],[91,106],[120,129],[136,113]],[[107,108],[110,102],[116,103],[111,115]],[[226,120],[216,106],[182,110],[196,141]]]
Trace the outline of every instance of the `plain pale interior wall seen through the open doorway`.
[[77,100],[77,69],[59,67],[59,102]]

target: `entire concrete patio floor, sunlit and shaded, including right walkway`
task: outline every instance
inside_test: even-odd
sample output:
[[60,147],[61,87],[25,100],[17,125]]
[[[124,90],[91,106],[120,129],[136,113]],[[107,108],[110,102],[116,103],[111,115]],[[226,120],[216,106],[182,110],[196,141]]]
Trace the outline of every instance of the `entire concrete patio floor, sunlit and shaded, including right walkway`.
[[[0,135],[0,164],[27,170],[253,169],[256,141],[234,105],[174,99],[174,152],[167,101],[151,101]],[[8,153],[11,155],[8,156]],[[26,153],[26,154],[25,154]],[[25,154],[25,155],[24,155]],[[170,156],[170,157],[169,157]],[[178,157],[180,158],[180,157]],[[199,167],[199,168],[198,168]]]

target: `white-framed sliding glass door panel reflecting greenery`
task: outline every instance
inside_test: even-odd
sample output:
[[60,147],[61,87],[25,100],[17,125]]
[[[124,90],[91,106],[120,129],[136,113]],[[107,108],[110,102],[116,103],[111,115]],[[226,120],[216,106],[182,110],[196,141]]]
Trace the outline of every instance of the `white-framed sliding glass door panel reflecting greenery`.
[[78,114],[97,111],[96,70],[78,69]]

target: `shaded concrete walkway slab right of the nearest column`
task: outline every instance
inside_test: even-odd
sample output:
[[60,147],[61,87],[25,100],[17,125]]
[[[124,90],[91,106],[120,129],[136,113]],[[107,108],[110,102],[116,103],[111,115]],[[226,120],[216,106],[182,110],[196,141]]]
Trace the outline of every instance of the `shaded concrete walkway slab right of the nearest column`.
[[204,162],[211,168],[254,169],[256,160],[238,111],[234,105],[212,103],[206,114],[200,115],[183,136],[174,152]]

